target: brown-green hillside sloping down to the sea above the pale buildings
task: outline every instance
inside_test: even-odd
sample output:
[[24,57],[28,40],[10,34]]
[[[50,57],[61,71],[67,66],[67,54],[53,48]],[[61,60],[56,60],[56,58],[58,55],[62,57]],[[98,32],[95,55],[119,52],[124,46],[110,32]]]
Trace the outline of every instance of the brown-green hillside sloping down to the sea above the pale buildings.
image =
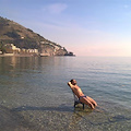
[[29,28],[0,16],[0,51],[11,52],[7,49],[10,44],[20,49],[37,49],[38,53],[44,56],[68,55],[64,47],[44,38]]

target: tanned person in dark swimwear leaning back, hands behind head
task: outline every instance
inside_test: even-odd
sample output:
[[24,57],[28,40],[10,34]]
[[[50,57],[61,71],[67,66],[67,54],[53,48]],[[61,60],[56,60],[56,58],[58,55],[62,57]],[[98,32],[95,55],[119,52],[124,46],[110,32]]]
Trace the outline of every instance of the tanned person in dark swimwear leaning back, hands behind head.
[[70,82],[68,82],[68,85],[71,87],[73,93],[79,97],[79,100],[81,103],[88,105],[92,109],[94,109],[97,106],[97,103],[93,98],[85,96],[83,94],[82,90],[76,85],[75,80],[71,80]]

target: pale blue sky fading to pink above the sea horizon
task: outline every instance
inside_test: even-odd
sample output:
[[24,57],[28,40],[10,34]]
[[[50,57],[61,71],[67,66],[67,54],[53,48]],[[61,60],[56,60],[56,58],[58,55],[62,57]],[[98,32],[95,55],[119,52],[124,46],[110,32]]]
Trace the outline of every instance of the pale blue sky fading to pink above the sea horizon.
[[76,56],[131,57],[131,0],[0,0],[0,16]]

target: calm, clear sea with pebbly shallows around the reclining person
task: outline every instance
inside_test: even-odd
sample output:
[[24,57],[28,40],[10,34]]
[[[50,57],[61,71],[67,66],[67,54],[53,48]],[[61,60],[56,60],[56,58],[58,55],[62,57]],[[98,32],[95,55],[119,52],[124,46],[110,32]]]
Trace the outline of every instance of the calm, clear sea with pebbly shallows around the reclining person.
[[[71,79],[96,109],[73,107]],[[131,58],[0,57],[0,131],[131,131]]]

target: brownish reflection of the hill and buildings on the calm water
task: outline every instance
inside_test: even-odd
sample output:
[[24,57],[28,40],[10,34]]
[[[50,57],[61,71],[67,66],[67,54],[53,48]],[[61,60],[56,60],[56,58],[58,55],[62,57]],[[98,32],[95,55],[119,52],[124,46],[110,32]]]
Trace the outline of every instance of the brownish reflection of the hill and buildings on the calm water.
[[0,57],[0,72],[9,72],[15,70],[45,70],[48,67],[57,68],[59,64],[64,66],[64,60],[59,58],[38,58],[38,57]]

